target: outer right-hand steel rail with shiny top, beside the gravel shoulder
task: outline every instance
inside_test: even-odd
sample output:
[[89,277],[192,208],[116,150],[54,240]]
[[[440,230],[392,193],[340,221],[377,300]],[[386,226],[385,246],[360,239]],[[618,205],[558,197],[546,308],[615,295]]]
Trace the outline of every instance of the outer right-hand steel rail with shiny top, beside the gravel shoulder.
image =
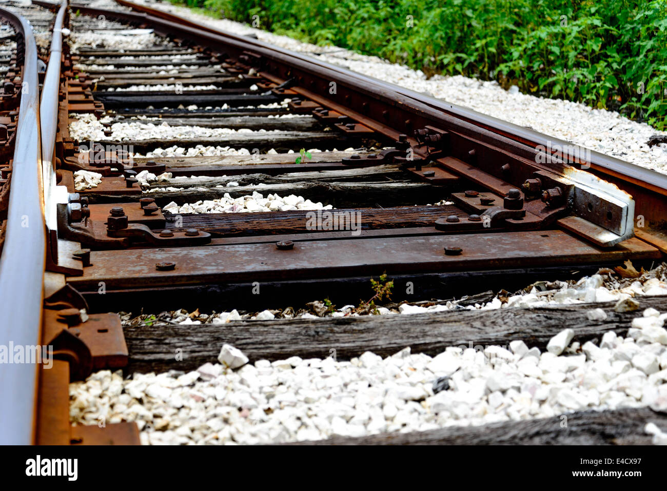
[[[526,127],[515,125],[514,123],[509,123],[508,121],[503,121],[502,119],[474,111],[473,109],[468,109],[467,107],[462,107],[442,99],[436,99],[435,97],[406,89],[405,87],[400,87],[399,85],[376,79],[370,75],[362,75],[361,73],[356,73],[354,71],[332,65],[331,63],[326,63],[325,61],[321,61],[315,57],[301,55],[300,53],[295,53],[293,51],[289,51],[288,49],[276,47],[274,45],[270,45],[269,43],[264,43],[250,37],[227,33],[225,31],[221,31],[220,29],[215,29],[207,25],[201,25],[195,23],[194,21],[179,17],[178,15],[161,11],[159,9],[153,9],[139,3],[133,3],[128,0],[116,0],[116,2],[136,11],[147,13],[148,15],[153,15],[154,17],[180,23],[181,25],[199,29],[200,31],[207,31],[209,33],[228,37],[229,39],[234,39],[236,41],[243,41],[244,43],[247,43],[247,45],[254,45],[256,47],[261,47],[262,49],[271,49],[277,53],[282,53],[296,59],[307,61],[308,63],[311,63],[311,65],[337,71],[338,73],[342,73],[350,78],[356,78],[361,83],[370,83],[374,87],[400,93],[422,104],[433,107],[434,109],[438,109],[439,111],[442,111],[448,115],[452,115],[469,123],[473,123],[474,125],[487,129],[488,131],[498,133],[499,135],[508,137],[509,139],[523,143],[524,145],[528,145],[530,147],[542,146],[546,148],[553,148],[558,146],[565,151],[555,152],[553,155],[562,157],[564,160],[569,162],[581,161],[582,155],[586,155],[588,153],[591,157],[590,165],[592,169],[600,173],[612,175],[614,177],[620,177],[624,181],[630,181],[636,185],[641,185],[642,187],[646,187],[662,195],[667,195],[667,175],[663,173],[653,171],[651,169],[646,169],[645,167],[640,167],[621,159],[610,157],[609,155],[604,155],[604,153],[600,153],[594,150],[587,151],[580,145],[575,145],[568,141],[564,141],[544,133],[539,133],[533,129],[528,129]],[[570,153],[568,150],[572,147],[574,147],[574,152]]]

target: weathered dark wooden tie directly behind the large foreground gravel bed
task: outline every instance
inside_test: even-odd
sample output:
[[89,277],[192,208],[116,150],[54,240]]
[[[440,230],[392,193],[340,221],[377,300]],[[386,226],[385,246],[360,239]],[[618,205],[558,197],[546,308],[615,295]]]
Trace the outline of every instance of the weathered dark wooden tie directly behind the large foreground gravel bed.
[[[640,298],[640,309],[666,310],[664,297]],[[603,308],[604,321],[586,316],[592,308]],[[559,308],[454,311],[434,314],[366,316],[273,321],[232,322],[221,326],[144,326],[126,328],[129,371],[161,372],[193,370],[215,362],[220,347],[227,343],[243,351],[251,362],[290,356],[325,358],[331,348],[339,359],[372,351],[392,355],[406,346],[412,352],[434,356],[448,346],[509,346],[523,340],[544,350],[552,336],[564,328],[574,330],[574,339],[586,342],[608,331],[626,335],[638,312],[614,312],[613,304],[583,304]],[[175,350],[184,359],[174,361]]]

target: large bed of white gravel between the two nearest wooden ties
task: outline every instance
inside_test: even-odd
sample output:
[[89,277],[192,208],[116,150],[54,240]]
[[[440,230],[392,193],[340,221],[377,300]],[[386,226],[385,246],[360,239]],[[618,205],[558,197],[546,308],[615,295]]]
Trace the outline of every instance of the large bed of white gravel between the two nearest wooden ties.
[[[350,361],[250,360],[223,346],[189,372],[108,370],[70,385],[77,424],[136,421],[145,444],[258,444],[480,425],[650,406],[667,410],[667,314],[647,309],[626,337],[574,342],[563,354],[522,341],[410,348]],[[570,333],[552,340],[562,343]]]

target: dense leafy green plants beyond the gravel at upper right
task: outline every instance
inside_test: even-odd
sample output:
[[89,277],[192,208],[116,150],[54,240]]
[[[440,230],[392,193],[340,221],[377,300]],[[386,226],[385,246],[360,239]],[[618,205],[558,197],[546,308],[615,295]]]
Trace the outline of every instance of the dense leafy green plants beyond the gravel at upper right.
[[185,2],[235,21],[256,15],[262,29],[427,75],[495,79],[667,129],[667,0]]

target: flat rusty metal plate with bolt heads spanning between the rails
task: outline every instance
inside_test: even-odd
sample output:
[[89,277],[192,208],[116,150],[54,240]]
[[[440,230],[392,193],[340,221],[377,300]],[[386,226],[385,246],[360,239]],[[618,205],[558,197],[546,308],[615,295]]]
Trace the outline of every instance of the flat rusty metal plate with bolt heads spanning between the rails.
[[[459,256],[444,248],[460,247]],[[69,281],[75,288],[178,286],[231,281],[333,278],[336,276],[445,272],[572,265],[660,258],[660,251],[630,239],[614,250],[602,250],[563,231],[480,233],[428,237],[383,237],[355,240],[301,241],[280,251],[275,243],[235,244],[205,248],[99,251],[93,266]],[[155,264],[174,262],[171,271]]]

